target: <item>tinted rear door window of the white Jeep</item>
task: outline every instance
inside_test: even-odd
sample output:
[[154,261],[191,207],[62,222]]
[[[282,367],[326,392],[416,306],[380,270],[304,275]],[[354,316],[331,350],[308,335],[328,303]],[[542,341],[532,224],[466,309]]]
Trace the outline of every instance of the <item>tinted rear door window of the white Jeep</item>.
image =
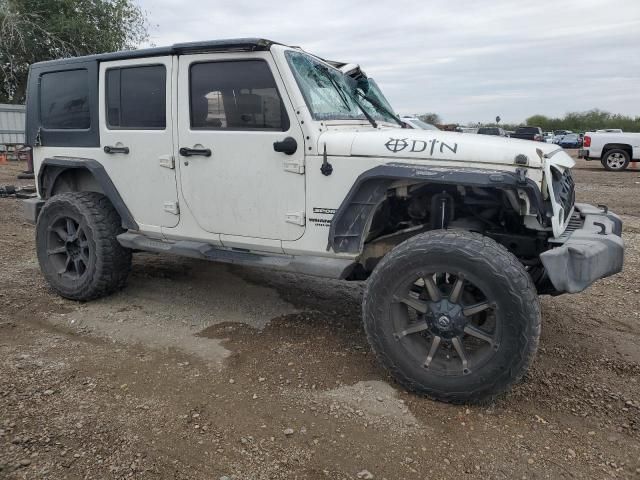
[[164,65],[112,68],[106,73],[107,124],[113,128],[165,128]]

